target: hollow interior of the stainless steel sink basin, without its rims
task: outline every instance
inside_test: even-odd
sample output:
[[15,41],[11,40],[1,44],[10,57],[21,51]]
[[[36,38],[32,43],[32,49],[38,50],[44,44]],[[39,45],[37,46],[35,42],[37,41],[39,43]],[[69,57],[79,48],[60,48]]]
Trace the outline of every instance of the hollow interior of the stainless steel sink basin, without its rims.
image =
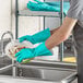
[[47,70],[47,69],[29,69],[22,68],[22,76],[25,78],[35,78],[47,81],[59,82],[66,79],[67,76],[73,74],[75,71],[67,71],[61,69]]

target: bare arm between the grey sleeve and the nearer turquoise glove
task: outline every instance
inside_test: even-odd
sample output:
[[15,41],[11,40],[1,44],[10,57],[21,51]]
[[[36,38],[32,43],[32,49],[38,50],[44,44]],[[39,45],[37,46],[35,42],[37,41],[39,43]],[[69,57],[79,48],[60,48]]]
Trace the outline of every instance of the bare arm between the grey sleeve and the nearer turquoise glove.
[[66,40],[70,36],[75,23],[76,20],[66,17],[63,24],[46,40],[46,47],[51,49]]

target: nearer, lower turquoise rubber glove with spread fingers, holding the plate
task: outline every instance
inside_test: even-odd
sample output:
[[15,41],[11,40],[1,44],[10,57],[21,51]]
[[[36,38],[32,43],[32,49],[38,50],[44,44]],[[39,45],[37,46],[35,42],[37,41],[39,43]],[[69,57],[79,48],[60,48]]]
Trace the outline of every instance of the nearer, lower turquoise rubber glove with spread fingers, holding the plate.
[[52,54],[50,50],[46,47],[45,43],[40,44],[38,47],[29,49],[29,48],[23,48],[21,51],[15,54],[16,61],[22,62],[24,59],[31,59],[37,56],[51,56]]

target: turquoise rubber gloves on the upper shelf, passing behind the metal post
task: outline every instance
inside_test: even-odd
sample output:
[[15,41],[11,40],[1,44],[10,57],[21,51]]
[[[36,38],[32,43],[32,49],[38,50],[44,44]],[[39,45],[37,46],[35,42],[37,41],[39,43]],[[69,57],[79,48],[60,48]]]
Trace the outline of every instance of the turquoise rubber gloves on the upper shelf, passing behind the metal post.
[[[60,12],[60,1],[55,2],[42,2],[40,0],[34,0],[36,2],[28,1],[27,8],[31,11],[50,11],[50,12]],[[68,1],[63,2],[63,14],[67,15],[67,12],[70,8]]]

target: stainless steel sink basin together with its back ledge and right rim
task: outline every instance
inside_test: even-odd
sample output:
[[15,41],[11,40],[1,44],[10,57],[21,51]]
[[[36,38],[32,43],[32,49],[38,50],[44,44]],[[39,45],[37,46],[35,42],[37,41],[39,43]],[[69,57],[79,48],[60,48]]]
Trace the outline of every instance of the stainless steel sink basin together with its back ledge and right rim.
[[21,76],[40,81],[70,83],[76,78],[75,64],[62,62],[32,61],[27,64],[16,64]]

